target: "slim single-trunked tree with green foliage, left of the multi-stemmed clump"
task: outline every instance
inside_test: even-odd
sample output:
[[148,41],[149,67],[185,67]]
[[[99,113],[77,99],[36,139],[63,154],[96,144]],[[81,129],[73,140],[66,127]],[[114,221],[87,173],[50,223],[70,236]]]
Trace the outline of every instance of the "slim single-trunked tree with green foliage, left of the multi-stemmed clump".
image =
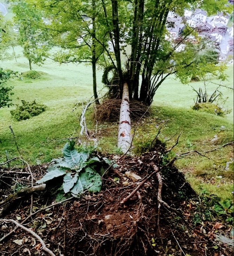
[[[103,51],[108,48],[108,31],[100,22],[100,1],[41,1],[35,0],[47,17],[47,30],[52,44],[59,50],[51,57],[60,63],[87,63],[92,65],[93,93],[99,103],[96,66],[103,63]],[[108,52],[109,54],[109,52]]]

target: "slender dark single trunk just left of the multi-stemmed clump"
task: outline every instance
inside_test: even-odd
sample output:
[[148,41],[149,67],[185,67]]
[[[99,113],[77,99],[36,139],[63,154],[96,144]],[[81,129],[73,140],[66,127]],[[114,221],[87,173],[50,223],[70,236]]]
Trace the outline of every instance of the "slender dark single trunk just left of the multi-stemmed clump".
[[[95,0],[92,0],[92,7],[93,11],[95,12]],[[93,31],[92,31],[92,69],[93,69],[93,95],[96,104],[100,104],[98,100],[98,93],[97,93],[97,79],[96,79],[96,22],[95,22],[95,15],[92,18],[93,23]]]

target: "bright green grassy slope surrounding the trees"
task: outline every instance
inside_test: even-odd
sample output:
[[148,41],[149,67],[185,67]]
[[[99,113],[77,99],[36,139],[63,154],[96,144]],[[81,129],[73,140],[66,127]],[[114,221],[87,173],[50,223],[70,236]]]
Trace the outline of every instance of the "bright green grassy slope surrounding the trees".
[[[3,68],[18,70],[20,73],[28,70],[28,63],[21,56],[20,48],[16,49],[19,58],[15,61],[2,63]],[[30,163],[46,162],[60,154],[64,141],[62,138],[77,136],[79,131],[80,107],[74,112],[72,108],[76,102],[85,101],[92,95],[92,73],[91,68],[85,65],[64,64],[58,65],[47,61],[36,70],[46,72],[43,79],[27,80],[13,79],[9,84],[14,86],[13,103],[20,103],[21,99],[34,100],[44,103],[49,109],[37,117],[21,122],[11,119],[9,111],[11,108],[0,109],[0,161],[5,160],[5,150],[10,157],[18,154],[9,125],[14,129],[17,143],[24,158]],[[231,76],[233,66],[228,73]],[[233,75],[232,75],[233,77]],[[230,81],[232,81],[230,77]],[[101,86],[101,72],[98,72],[98,85]],[[231,82],[227,83],[233,86]],[[192,83],[198,88],[200,82]],[[215,87],[213,86],[213,89]],[[224,95],[228,95],[227,106],[233,107],[233,91],[222,89]],[[200,151],[213,148],[210,139],[219,132],[221,125],[225,125],[227,132],[219,133],[220,144],[233,138],[233,125],[230,120],[233,112],[228,118],[217,117],[191,110],[194,92],[189,86],[181,85],[178,81],[168,79],[160,87],[155,95],[154,115],[150,120],[143,120],[136,131],[135,145],[144,140],[153,138],[158,131],[156,124],[160,120],[169,119],[169,123],[162,131],[161,139],[171,137],[175,132],[183,130],[180,143],[174,149],[175,152],[198,149]],[[89,111],[88,125],[94,127]],[[116,124],[99,124],[98,130],[102,130],[100,146],[103,151],[114,152],[116,150]],[[170,146],[173,142],[169,142]],[[232,157],[232,147],[226,147],[210,154],[216,161],[194,156],[177,162],[179,168],[185,171],[189,181],[195,189],[207,189],[222,198],[230,197],[233,186],[230,182],[231,175],[225,173],[226,162]],[[196,178],[195,178],[195,175]],[[220,179],[218,176],[222,175]],[[228,176],[229,175],[229,176]],[[218,187],[217,187],[218,186]]]

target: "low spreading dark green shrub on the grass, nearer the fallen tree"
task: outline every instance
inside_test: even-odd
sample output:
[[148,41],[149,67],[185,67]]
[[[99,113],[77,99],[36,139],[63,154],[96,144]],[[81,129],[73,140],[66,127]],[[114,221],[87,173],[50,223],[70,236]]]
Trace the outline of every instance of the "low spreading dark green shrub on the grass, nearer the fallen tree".
[[46,106],[44,104],[36,103],[36,101],[28,102],[25,100],[21,100],[22,105],[16,105],[15,110],[11,110],[12,117],[17,121],[26,120],[35,115],[39,115],[40,113],[46,110]]

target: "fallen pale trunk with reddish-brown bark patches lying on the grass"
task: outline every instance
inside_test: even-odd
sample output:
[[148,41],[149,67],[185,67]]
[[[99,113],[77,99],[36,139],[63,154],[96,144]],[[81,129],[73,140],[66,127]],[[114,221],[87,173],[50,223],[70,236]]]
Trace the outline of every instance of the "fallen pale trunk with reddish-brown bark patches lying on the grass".
[[131,141],[129,92],[127,83],[124,83],[119,117],[118,148],[120,148],[123,153],[126,153],[131,146]]

